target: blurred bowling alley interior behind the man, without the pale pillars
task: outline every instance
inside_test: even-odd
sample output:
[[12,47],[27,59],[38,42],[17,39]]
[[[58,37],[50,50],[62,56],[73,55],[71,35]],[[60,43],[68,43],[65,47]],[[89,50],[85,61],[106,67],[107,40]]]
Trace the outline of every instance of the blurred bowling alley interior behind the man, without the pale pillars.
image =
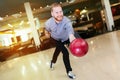
[[[51,17],[50,5],[62,4],[78,34],[91,38],[109,32],[106,27],[102,0],[2,0],[0,1],[0,61],[31,54],[54,47],[54,41],[45,37],[44,22]],[[120,29],[120,0],[109,0],[114,19],[114,30]],[[36,47],[24,3],[29,2],[39,34],[40,45]]]

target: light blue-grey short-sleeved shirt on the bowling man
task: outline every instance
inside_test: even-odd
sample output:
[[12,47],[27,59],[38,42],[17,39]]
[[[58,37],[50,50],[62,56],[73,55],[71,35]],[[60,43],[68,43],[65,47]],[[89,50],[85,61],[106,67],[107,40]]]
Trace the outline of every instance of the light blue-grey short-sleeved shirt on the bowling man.
[[51,17],[45,22],[45,29],[51,34],[51,37],[57,41],[66,41],[69,39],[69,34],[74,34],[72,23],[67,17],[63,17],[60,23],[56,23]]

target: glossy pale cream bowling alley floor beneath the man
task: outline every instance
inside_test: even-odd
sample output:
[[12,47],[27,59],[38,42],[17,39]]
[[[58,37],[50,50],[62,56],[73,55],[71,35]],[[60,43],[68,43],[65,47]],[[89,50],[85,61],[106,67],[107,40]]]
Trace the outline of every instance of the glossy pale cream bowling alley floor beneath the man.
[[[70,53],[75,80],[120,80],[120,31],[86,39],[89,51],[83,57]],[[65,72],[62,54],[55,69],[49,62],[55,48],[0,63],[0,80],[70,80]]]

